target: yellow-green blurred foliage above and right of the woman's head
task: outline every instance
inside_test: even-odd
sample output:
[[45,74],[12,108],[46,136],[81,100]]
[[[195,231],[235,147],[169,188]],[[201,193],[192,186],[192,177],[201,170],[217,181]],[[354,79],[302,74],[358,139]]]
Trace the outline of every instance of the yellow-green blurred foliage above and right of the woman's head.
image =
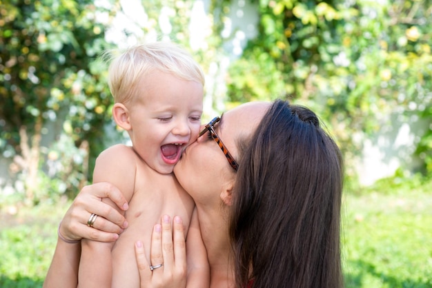
[[[353,135],[380,134],[391,115],[432,123],[430,4],[259,1],[259,34],[230,66],[230,100],[285,97],[312,107],[349,164],[362,150]],[[422,172],[431,173],[431,127],[418,136]]]

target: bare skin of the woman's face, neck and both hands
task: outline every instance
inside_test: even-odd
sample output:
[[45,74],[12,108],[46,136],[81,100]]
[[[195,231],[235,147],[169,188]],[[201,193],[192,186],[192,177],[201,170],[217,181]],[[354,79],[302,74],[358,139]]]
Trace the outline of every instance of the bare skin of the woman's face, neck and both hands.
[[[246,103],[240,105],[234,110],[226,112],[222,117],[221,123],[215,127],[217,134],[220,136],[228,150],[233,154],[234,158],[237,156],[236,140],[240,136],[248,136],[254,130],[262,116],[268,109],[270,103]],[[210,161],[209,161],[210,159]],[[235,172],[226,161],[226,157],[218,147],[213,139],[202,136],[195,143],[192,143],[181,158],[181,161],[175,166],[175,175],[177,180],[184,189],[193,197],[197,209],[197,216],[199,220],[199,227],[201,229],[202,240],[207,251],[208,263],[210,265],[210,287],[235,287],[233,278],[233,262],[230,258],[230,246],[228,238],[228,223],[226,222],[226,215],[230,209],[231,192],[235,183]],[[194,177],[190,177],[194,175]],[[209,185],[211,183],[212,185]],[[115,203],[123,207],[124,201],[121,200],[118,189],[108,184],[104,185],[109,191],[103,192],[104,195],[115,198]],[[93,186],[80,192],[77,196],[76,202],[70,207],[63,220],[63,227],[61,233],[63,236],[70,240],[80,239],[82,237],[100,237],[104,239],[114,240],[115,232],[121,231],[125,226],[125,218],[112,207],[103,207],[96,205],[100,202],[101,187]],[[99,197],[95,196],[98,195]],[[85,202],[84,199],[87,201]],[[81,202],[81,200],[83,200]],[[106,219],[112,220],[113,223],[106,223],[105,220],[100,224],[95,225],[96,229],[86,227],[87,218],[78,214],[84,211],[88,213],[96,213],[93,205],[97,206],[99,215]],[[77,214],[75,214],[75,212]],[[89,214],[87,214],[89,215]],[[137,265],[139,267],[139,274],[141,277],[141,287],[164,287],[162,282],[170,283],[173,279],[178,281],[175,287],[183,287],[184,271],[179,269],[182,265],[175,264],[181,261],[186,261],[184,252],[181,251],[180,240],[177,242],[173,239],[177,238],[176,222],[173,222],[173,238],[167,236],[164,238],[162,232],[161,238],[158,237],[156,230],[153,230],[152,243],[163,243],[168,240],[173,245],[153,245],[150,252],[153,257],[153,249],[155,247],[168,247],[166,253],[162,253],[164,259],[164,270],[157,269],[153,271],[150,276],[148,269],[148,262],[144,256],[146,252],[140,245],[135,245],[135,254],[137,257]],[[127,224],[126,224],[127,225]],[[164,227],[164,223],[161,223]],[[81,227],[79,227],[81,226]],[[79,228],[78,228],[79,227]],[[102,229],[108,227],[108,232],[93,232],[92,230]],[[168,225],[167,225],[168,227]],[[162,229],[163,230],[163,229]],[[168,230],[167,230],[168,234]],[[139,239],[137,239],[139,240]],[[60,241],[60,240],[59,240]],[[153,242],[154,241],[154,242]],[[62,247],[64,245],[61,245]],[[170,247],[170,248],[169,248]],[[159,248],[157,248],[159,249]],[[61,249],[63,254],[69,254],[70,251]],[[56,250],[57,253],[57,250]],[[60,253],[60,251],[59,251]],[[171,253],[174,255],[174,260],[171,258]],[[157,254],[157,252],[155,252]],[[61,257],[61,256],[59,256]],[[63,255],[64,258],[64,255]],[[153,263],[153,258],[152,258]],[[170,263],[170,265],[165,265]],[[157,272],[157,274],[155,273]],[[152,278],[153,275],[160,276],[155,278],[155,286],[144,285],[143,278]],[[173,278],[174,277],[174,278]],[[153,283],[153,282],[152,282]],[[153,284],[152,284],[153,285]],[[167,284],[168,285],[168,284]],[[47,286],[48,287],[48,286]],[[54,287],[54,286],[52,286]]]

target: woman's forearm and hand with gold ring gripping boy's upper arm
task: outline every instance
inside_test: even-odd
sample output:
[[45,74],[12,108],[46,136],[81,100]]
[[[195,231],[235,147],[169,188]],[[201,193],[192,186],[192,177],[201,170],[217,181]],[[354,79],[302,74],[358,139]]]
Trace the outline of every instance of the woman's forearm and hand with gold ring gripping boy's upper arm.
[[[110,198],[120,209],[128,209],[123,194],[109,183],[97,183],[81,189],[61,221],[59,239],[43,283],[44,288],[66,287],[65,283],[67,287],[77,287],[81,257],[79,240],[89,238],[103,242],[115,241],[119,238],[118,233],[127,227],[124,216],[115,208],[103,203],[102,198]],[[92,213],[99,215],[94,228],[87,226],[88,218]],[[65,240],[78,242],[68,243]]]

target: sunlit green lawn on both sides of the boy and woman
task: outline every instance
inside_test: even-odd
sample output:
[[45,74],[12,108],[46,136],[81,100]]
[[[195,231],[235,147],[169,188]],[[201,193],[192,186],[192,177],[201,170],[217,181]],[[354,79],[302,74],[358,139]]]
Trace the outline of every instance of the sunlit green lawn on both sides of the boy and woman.
[[[432,287],[432,183],[387,185],[344,195],[346,287]],[[0,287],[42,286],[68,205],[0,207]]]

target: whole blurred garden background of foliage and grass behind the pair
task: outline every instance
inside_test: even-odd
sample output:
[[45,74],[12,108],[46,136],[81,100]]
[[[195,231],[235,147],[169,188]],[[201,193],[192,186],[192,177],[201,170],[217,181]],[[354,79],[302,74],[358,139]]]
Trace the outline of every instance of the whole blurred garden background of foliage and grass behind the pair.
[[111,118],[105,50],[175,41],[204,117],[313,109],[344,153],[346,287],[432,287],[430,0],[0,0],[0,286],[41,287]]

